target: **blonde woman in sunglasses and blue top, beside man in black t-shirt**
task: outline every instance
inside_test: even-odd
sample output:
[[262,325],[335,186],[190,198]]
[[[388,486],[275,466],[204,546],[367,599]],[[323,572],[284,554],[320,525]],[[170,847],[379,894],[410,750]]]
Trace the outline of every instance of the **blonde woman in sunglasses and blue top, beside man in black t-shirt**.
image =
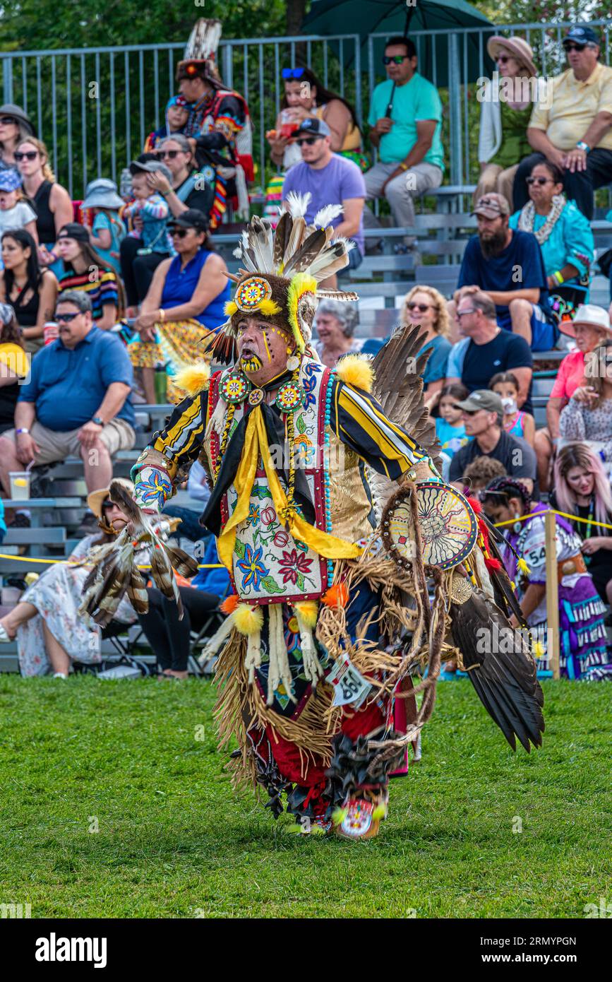
[[446,364],[452,348],[446,300],[434,287],[413,287],[402,303],[400,323],[414,326],[418,324],[427,331],[427,341],[419,355],[430,351],[432,353],[425,366],[423,382],[427,394],[426,403],[433,406],[446,378]]

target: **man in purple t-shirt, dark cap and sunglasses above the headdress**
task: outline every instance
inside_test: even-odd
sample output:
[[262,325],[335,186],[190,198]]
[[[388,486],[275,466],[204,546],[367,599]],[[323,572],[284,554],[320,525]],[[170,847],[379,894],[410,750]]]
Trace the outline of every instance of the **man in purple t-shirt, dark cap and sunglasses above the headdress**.
[[[282,200],[286,202],[289,191],[311,198],[306,210],[306,221],[312,222],[321,208],[327,204],[341,204],[343,212],[334,218],[335,236],[342,236],[355,243],[348,253],[349,264],[338,274],[356,269],[363,260],[363,209],[366,200],[366,183],[357,164],[332,153],[331,130],[324,120],[308,117],[296,132],[296,142],[302,152],[302,163],[294,164],[282,185]],[[335,275],[320,284],[326,290],[337,287]]]

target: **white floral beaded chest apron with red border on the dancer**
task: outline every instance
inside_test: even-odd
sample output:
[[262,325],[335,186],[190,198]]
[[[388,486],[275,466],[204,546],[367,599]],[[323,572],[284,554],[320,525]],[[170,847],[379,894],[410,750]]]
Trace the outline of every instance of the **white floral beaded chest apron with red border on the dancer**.
[[[332,371],[318,361],[304,358],[299,385],[304,392],[302,405],[293,410],[293,431],[296,466],[303,468],[310,497],[315,508],[315,524],[323,531],[331,529],[329,518],[329,474],[326,415],[329,411],[328,393],[332,393]],[[219,401],[219,385],[223,373],[211,378],[211,403],[214,411]],[[245,403],[236,406],[232,426],[244,415]],[[282,418],[285,418],[283,414]],[[282,455],[281,468],[287,468],[285,448],[272,448],[273,461]],[[213,431],[210,457],[213,473],[219,455],[219,437]],[[303,463],[300,464],[300,459]],[[280,482],[286,487],[280,476]],[[233,485],[222,500],[224,526],[232,515],[237,501]],[[306,543],[293,538],[285,529],[272,499],[261,460],[250,495],[249,513],[236,529],[231,579],[241,600],[257,604],[284,601],[316,600],[328,587],[328,561]]]

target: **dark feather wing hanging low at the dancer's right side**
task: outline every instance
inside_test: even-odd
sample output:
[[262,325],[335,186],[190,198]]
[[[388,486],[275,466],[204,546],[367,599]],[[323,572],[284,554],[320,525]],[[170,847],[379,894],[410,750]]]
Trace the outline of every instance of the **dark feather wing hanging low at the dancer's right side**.
[[[450,618],[452,639],[461,651],[470,681],[512,749],[516,749],[516,738],[528,753],[530,741],[541,746],[544,696],[524,633],[513,630],[504,614],[478,589],[463,604],[451,602]],[[477,650],[476,638],[490,638],[490,644],[485,641],[479,648],[491,650]],[[493,643],[495,638],[499,643]],[[511,644],[504,643],[504,638]],[[492,650],[506,646],[512,651]]]

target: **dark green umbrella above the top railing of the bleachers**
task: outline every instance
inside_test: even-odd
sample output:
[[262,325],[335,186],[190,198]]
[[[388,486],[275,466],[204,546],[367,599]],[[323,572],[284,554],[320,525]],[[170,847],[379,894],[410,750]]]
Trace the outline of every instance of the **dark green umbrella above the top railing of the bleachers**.
[[[310,14],[305,18],[303,29],[311,34],[337,34],[340,32],[358,33],[361,36],[361,64],[369,70],[372,81],[380,81],[383,73],[384,37],[374,38],[368,45],[371,34],[407,34],[412,37],[419,53],[419,72],[436,85],[446,87],[449,81],[448,36],[460,27],[490,27],[479,41],[479,32],[474,30],[466,35],[457,35],[456,54],[458,57],[459,81],[476,82],[483,75],[490,76],[493,62],[486,54],[486,37],[495,33],[490,21],[465,0],[415,0],[414,6],[407,6],[405,0],[312,0]],[[407,29],[406,29],[407,28]],[[432,34],[439,30],[442,33]],[[426,31],[418,34],[416,31]],[[337,42],[332,42],[336,51]],[[342,46],[345,67],[354,62],[352,45]],[[455,79],[457,76],[455,75]]]

